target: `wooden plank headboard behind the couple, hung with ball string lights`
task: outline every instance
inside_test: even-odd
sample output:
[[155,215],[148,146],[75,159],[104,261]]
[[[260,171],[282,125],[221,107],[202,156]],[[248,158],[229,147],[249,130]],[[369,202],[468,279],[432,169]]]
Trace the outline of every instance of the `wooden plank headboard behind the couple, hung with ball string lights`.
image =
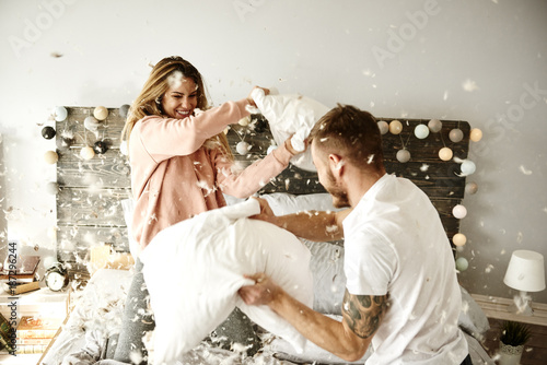
[[[56,125],[56,139],[60,140],[66,131],[71,131],[74,143],[58,150],[57,182],[57,256],[61,262],[69,263],[72,275],[85,279],[89,248],[108,244],[116,251],[128,251],[127,227],[120,201],[130,197],[130,167],[127,157],[120,152],[120,133],[125,118],[118,108],[108,108],[108,117],[101,122],[96,132],[84,128],[84,119],[93,116],[94,107],[66,107],[68,117]],[[392,121],[394,118],[377,118]],[[438,209],[446,235],[452,238],[459,229],[459,222],[452,215],[452,208],[464,198],[465,177],[459,177],[459,164],[439,158],[439,150],[451,148],[454,156],[467,157],[469,145],[469,125],[466,121],[442,120],[442,130],[430,133],[420,140],[414,136],[419,123],[429,119],[400,119],[400,134],[387,132],[383,136],[384,158],[387,173],[411,179],[431,199]],[[459,128],[464,133],[461,142],[453,143],[449,132]],[[243,165],[260,158],[270,146],[271,133],[267,122],[259,115],[252,116],[252,122],[242,127],[233,125],[228,139],[236,161]],[[244,139],[251,143],[248,154],[235,152],[237,142]],[[80,151],[93,146],[96,141],[105,141],[108,150],[91,160],[83,160]],[[400,163],[396,153],[403,144],[410,151],[411,160]],[[293,195],[323,192],[315,173],[294,166],[287,168],[275,180],[265,186],[260,193],[289,192]]]

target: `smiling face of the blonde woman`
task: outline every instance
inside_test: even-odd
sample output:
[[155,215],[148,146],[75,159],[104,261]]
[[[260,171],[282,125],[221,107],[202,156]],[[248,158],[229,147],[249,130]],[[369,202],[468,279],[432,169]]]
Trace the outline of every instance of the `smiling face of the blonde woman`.
[[162,97],[163,111],[171,118],[189,117],[198,105],[198,91],[194,80],[182,78]]

